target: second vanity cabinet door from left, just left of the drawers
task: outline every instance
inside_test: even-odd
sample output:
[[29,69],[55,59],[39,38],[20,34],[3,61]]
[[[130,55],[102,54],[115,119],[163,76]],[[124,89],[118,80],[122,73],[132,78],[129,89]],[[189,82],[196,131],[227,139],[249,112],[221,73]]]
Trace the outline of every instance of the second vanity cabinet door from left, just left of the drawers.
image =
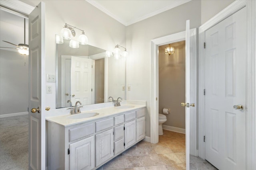
[[96,166],[114,156],[113,129],[96,135]]

